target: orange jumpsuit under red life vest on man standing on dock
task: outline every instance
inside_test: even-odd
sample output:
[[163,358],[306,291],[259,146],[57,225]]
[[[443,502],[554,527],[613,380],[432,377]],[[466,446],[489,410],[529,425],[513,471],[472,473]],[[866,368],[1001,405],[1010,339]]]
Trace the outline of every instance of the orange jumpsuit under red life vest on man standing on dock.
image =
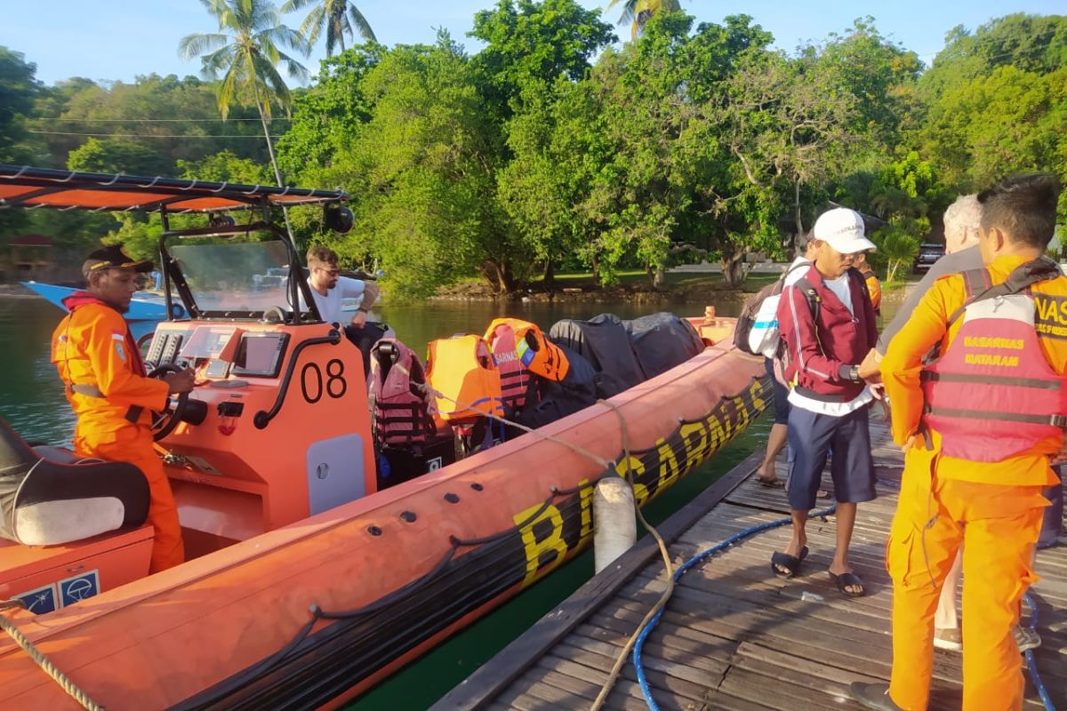
[[[1004,256],[987,265],[993,284],[1025,260]],[[1052,369],[1067,370],[1067,278],[1031,287],[1041,348]],[[938,279],[881,361],[892,403],[893,439],[904,445],[920,425],[923,356],[945,335],[949,317],[966,301],[964,277]],[[1061,310],[1063,306],[1063,310]],[[953,323],[942,353],[962,319]],[[989,426],[1010,426],[993,422]],[[890,696],[908,711],[926,709],[933,666],[934,611],[949,568],[964,546],[964,711],[1022,708],[1021,657],[1012,636],[1023,593],[1037,578],[1034,546],[1056,483],[1049,459],[1062,437],[1002,462],[969,462],[940,454],[930,431],[905,456],[901,499],[886,548],[893,579],[893,675]]]

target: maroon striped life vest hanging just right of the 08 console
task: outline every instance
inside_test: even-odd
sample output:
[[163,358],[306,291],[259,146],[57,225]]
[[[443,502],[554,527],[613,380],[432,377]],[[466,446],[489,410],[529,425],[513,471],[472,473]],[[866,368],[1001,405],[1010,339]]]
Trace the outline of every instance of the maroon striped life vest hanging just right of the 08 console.
[[418,356],[400,341],[383,338],[370,349],[367,389],[379,443],[413,445],[434,433],[426,398],[416,387],[425,384],[426,373]]

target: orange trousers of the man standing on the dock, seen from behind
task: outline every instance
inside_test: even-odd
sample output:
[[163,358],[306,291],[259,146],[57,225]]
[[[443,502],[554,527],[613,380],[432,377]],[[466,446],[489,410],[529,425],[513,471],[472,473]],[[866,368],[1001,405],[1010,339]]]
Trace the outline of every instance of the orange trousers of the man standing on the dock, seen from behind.
[[[893,579],[889,694],[924,711],[934,663],[934,612],[964,545],[964,711],[1022,708],[1022,657],[1012,636],[1048,500],[1040,486],[938,479],[937,458],[908,457],[886,548]],[[930,471],[933,470],[933,471]]]

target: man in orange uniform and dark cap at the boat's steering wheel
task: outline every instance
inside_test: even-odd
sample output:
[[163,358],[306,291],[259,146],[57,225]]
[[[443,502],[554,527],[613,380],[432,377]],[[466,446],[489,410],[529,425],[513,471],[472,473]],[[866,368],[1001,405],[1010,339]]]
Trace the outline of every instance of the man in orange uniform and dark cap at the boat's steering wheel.
[[156,529],[149,572],[185,561],[181,528],[171,485],[153,447],[150,409],[162,410],[172,393],[193,389],[193,371],[145,376],[141,353],[126,319],[139,272],[118,246],[97,249],[82,264],[85,291],[67,296],[69,313],[52,334],[52,362],[78,416],[74,449],[79,456],[136,465],[148,480],[148,521]]

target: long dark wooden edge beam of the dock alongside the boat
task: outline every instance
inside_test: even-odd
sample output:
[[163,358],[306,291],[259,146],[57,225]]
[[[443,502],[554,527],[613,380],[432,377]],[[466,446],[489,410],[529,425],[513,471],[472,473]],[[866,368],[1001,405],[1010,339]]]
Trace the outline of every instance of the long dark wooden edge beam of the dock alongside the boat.
[[[672,542],[748,479],[762,462],[763,451],[753,452],[663,523],[658,529],[659,535],[668,544]],[[658,554],[658,547],[652,536],[639,540],[609,570],[604,571],[607,575],[593,576],[558,609],[516,637],[460,685],[445,694],[431,709],[459,711],[480,708]]]

